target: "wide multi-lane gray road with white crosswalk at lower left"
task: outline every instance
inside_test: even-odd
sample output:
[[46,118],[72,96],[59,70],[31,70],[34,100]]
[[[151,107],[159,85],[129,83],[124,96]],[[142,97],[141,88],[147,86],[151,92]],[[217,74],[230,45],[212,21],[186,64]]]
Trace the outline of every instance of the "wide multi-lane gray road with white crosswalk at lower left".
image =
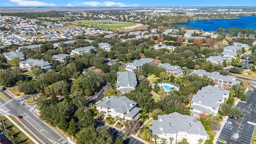
[[[22,115],[19,121],[43,143],[68,143],[51,127],[44,124],[41,119],[31,113],[25,105],[25,101],[14,99],[5,91],[0,92],[0,114],[13,116]],[[33,107],[32,107],[33,108]]]

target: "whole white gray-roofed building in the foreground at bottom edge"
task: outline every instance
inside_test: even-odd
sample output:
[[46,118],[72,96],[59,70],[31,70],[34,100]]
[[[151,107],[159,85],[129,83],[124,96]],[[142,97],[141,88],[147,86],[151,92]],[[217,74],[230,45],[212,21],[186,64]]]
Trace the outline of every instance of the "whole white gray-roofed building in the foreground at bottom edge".
[[[149,129],[152,134],[156,134],[157,143],[166,139],[166,143],[179,143],[182,139],[187,139],[189,143],[198,143],[199,139],[209,140],[209,136],[200,121],[195,116],[181,115],[177,112],[169,115],[158,115],[157,120],[152,120]],[[173,138],[173,141],[170,141]],[[155,140],[153,140],[155,141]]]

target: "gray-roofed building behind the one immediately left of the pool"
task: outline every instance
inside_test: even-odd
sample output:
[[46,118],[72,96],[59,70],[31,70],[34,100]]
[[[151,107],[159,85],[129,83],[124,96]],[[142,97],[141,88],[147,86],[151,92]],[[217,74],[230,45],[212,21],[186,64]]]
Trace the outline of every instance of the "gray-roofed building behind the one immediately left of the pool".
[[126,70],[134,71],[135,69],[140,69],[145,63],[153,63],[154,59],[141,58],[139,60],[134,60],[133,62],[126,63]]

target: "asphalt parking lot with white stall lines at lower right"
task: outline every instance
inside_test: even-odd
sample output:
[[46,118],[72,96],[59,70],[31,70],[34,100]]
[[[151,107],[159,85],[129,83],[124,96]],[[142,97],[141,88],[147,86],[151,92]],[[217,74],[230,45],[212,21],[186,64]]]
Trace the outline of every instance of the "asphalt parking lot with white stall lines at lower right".
[[[248,91],[246,103],[238,102],[237,107],[243,110],[243,116],[239,119],[228,118],[220,133],[219,138],[227,143],[251,144],[254,125],[256,122],[256,93]],[[249,122],[249,123],[248,123]],[[222,143],[217,141],[217,143]]]

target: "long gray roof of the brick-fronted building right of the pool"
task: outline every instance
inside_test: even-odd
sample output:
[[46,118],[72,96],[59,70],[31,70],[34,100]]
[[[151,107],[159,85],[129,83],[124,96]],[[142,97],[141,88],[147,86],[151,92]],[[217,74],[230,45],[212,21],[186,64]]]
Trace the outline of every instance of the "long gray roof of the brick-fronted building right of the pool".
[[209,73],[209,72],[207,72],[207,71],[205,71],[203,69],[198,69],[198,70],[193,71],[190,74],[195,74],[195,75],[199,75],[199,76],[204,76],[205,75],[207,77],[212,77],[214,79],[222,80],[222,81],[225,81],[225,82],[231,82],[231,83],[234,83],[234,84],[239,84],[240,83],[239,81],[236,81],[236,77],[235,76],[220,75],[220,73],[217,72],[217,71]]

